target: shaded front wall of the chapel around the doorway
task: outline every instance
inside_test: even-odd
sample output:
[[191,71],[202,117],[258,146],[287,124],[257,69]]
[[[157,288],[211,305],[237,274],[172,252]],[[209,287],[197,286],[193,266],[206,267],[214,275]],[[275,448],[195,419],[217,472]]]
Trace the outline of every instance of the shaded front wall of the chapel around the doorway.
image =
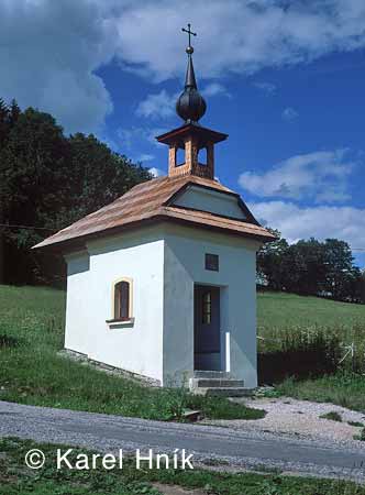
[[[225,341],[229,334],[230,372],[245,386],[255,387],[255,250],[259,244],[173,224],[165,232],[164,382],[176,370],[176,381],[193,370],[193,284],[209,284],[222,287],[221,336]],[[206,253],[219,255],[219,272],[204,268]]]

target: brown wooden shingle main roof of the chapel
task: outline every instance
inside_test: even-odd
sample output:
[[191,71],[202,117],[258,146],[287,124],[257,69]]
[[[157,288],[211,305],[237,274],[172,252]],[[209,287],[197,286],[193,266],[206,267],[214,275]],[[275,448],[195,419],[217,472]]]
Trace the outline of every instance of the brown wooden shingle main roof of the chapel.
[[[53,248],[62,251],[80,248],[92,238],[114,234],[141,222],[175,221],[186,224],[231,232],[259,241],[275,239],[261,227],[246,209],[248,221],[221,217],[206,211],[191,210],[170,205],[170,200],[189,184],[220,193],[239,196],[217,180],[193,175],[159,177],[134,186],[115,201],[88,215],[66,229],[51,235],[34,248]],[[244,204],[242,204],[244,208]]]

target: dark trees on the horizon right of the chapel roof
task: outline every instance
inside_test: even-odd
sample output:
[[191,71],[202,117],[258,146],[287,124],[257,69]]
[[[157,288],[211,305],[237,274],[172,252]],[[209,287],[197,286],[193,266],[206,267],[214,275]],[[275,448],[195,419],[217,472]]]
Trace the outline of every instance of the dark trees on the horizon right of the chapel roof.
[[[270,229],[272,230],[272,229]],[[257,254],[258,284],[272,290],[365,302],[365,273],[354,264],[350,245],[338,239],[277,240]]]

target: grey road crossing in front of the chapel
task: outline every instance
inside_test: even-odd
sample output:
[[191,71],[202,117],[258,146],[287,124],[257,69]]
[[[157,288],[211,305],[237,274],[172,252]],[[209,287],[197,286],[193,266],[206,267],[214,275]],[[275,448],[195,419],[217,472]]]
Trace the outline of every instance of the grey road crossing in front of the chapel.
[[[327,447],[322,441],[277,433],[200,425],[150,421],[0,402],[0,437],[75,444],[99,451],[169,453],[186,449],[193,464],[221,470],[280,470],[284,473],[347,477],[365,482],[365,450]],[[360,442],[358,442],[360,443]]]

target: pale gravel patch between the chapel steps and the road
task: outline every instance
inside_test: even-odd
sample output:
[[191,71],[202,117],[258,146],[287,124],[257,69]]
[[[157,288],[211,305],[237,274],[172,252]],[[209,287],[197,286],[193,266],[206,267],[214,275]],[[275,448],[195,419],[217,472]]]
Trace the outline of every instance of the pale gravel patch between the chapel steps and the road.
[[[316,440],[327,446],[364,449],[365,442],[354,440],[361,431],[360,427],[347,421],[362,422],[365,426],[365,415],[333,404],[311,403],[292,398],[256,398],[234,399],[248,407],[267,411],[265,418],[257,420],[210,420],[207,425],[224,426],[244,431],[270,432],[283,437]],[[342,421],[320,418],[330,411],[341,415]]]

